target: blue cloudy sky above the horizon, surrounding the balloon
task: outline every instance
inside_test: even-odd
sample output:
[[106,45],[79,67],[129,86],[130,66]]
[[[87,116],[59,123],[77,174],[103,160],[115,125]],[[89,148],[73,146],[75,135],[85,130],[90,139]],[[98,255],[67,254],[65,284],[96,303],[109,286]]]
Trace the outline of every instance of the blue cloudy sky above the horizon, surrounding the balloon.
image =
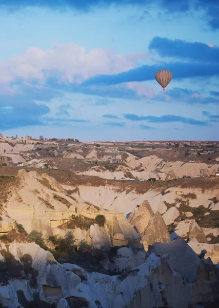
[[5,136],[219,139],[217,1],[2,0],[0,14]]

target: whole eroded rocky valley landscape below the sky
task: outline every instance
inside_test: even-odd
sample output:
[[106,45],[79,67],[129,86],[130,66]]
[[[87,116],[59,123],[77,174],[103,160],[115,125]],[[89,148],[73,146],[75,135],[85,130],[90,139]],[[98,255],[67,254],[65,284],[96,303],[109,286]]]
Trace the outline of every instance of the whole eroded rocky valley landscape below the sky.
[[0,305],[217,305],[217,148],[0,145]]

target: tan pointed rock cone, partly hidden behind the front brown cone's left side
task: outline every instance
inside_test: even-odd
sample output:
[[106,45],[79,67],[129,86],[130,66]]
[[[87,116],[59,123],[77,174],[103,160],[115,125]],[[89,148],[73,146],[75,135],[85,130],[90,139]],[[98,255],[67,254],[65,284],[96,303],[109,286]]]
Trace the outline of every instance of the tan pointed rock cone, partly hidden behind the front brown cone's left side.
[[153,215],[154,213],[148,200],[145,200],[135,211],[131,213],[128,221],[142,237],[144,230],[148,226],[148,222]]

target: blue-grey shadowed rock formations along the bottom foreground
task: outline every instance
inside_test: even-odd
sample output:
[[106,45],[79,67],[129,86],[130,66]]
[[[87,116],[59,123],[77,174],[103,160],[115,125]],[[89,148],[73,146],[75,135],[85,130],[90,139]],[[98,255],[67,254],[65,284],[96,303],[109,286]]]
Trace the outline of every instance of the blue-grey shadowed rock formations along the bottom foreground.
[[[3,307],[17,308],[22,302],[23,307],[188,308],[213,304],[218,299],[218,267],[209,259],[200,260],[180,238],[155,243],[142,265],[119,276],[58,264],[48,259],[50,253],[34,244],[11,244],[9,251],[14,266],[18,265],[18,280],[9,276],[7,283],[1,280]],[[23,266],[28,266],[29,277],[24,275],[27,267]]]

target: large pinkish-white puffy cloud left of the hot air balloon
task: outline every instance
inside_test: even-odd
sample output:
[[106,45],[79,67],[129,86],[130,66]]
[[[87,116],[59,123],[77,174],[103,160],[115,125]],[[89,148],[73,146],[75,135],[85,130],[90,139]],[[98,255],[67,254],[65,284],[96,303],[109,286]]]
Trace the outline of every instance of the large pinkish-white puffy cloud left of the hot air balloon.
[[86,52],[75,43],[57,43],[53,49],[30,47],[25,54],[0,61],[0,83],[16,80],[45,83],[48,77],[80,83],[96,74],[115,74],[136,66],[147,53],[115,54],[112,49],[96,48]]

